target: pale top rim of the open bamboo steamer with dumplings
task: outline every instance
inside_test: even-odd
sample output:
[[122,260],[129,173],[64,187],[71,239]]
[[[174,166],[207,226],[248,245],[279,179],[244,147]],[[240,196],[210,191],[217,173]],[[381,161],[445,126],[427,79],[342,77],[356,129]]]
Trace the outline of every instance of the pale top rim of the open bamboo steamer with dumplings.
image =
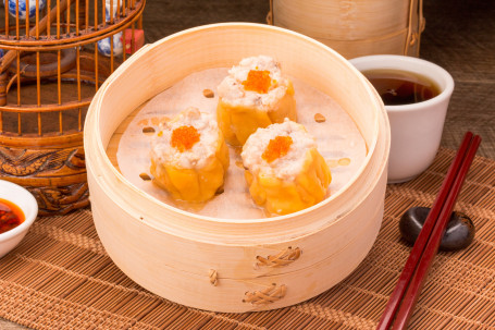
[[[135,62],[141,60],[141,58],[145,57],[145,54],[147,52],[152,51],[153,49],[157,49],[157,48],[161,47],[162,44],[165,44],[165,42],[169,42],[171,40],[174,40],[174,39],[181,38],[183,36],[190,35],[190,34],[195,34],[195,33],[213,32],[215,29],[225,29],[225,28],[252,28],[252,29],[259,29],[260,32],[270,30],[270,32],[281,33],[281,34],[285,34],[285,35],[292,35],[294,37],[304,39],[306,42],[313,44],[314,46],[323,48],[325,51],[332,53],[332,56],[337,58],[343,64],[345,64],[346,68],[351,71],[352,74],[358,75],[361,78],[361,81],[363,83],[363,88],[370,95],[371,100],[374,100],[375,106],[379,106],[380,109],[376,109],[376,115],[374,117],[374,120],[373,120],[373,130],[372,130],[373,131],[373,138],[372,138],[371,144],[367,143],[367,156],[364,158],[364,161],[361,164],[361,167],[359,168],[359,170],[357,171],[357,173],[352,176],[352,179],[349,180],[349,182],[347,182],[347,184],[345,184],[338,192],[336,192],[335,194],[331,195],[330,197],[325,198],[324,200],[318,203],[317,205],[314,205],[312,207],[306,208],[304,210],[300,210],[300,211],[297,211],[297,212],[294,212],[294,213],[285,215],[285,216],[276,216],[276,217],[270,217],[270,218],[258,218],[258,219],[215,218],[215,217],[208,217],[208,216],[197,215],[197,213],[194,213],[194,212],[182,210],[180,208],[176,208],[176,207],[174,207],[172,205],[169,205],[169,204],[166,204],[164,201],[159,200],[158,198],[145,193],[144,191],[141,191],[139,188],[137,188],[134,184],[132,184],[111,163],[110,158],[107,155],[106,147],[103,146],[102,139],[100,138],[101,130],[100,130],[100,125],[98,123],[101,122],[99,120],[99,118],[100,118],[102,102],[103,102],[103,99],[104,99],[104,96],[106,96],[106,91],[111,87],[112,83],[114,83],[115,80],[117,80],[121,76],[121,74],[125,72],[126,66],[131,66]],[[186,75],[187,74],[190,74],[190,72],[187,72]],[[145,101],[146,101],[146,99],[143,100],[143,102],[145,102]],[[94,114],[94,112],[95,112],[95,114]],[[364,76],[357,69],[355,69],[349,62],[347,62],[347,60],[343,56],[337,53],[335,50],[331,49],[330,47],[325,46],[324,44],[322,44],[320,41],[317,41],[317,40],[314,40],[314,39],[312,39],[312,38],[310,38],[308,36],[305,36],[302,34],[299,34],[299,33],[296,33],[296,32],[293,32],[293,30],[289,30],[289,29],[285,29],[285,28],[282,28],[282,27],[271,26],[271,25],[265,25],[265,24],[258,24],[258,23],[240,23],[240,22],[237,23],[237,22],[233,22],[233,23],[216,23],[216,24],[209,24],[209,25],[202,25],[202,26],[198,26],[198,27],[193,27],[193,28],[185,29],[185,30],[175,33],[173,35],[170,35],[170,36],[168,36],[168,37],[165,37],[165,38],[163,38],[161,40],[158,40],[158,41],[156,41],[153,44],[145,45],[144,47],[141,47],[136,53],[134,53],[129,59],[127,59],[127,61],[125,62],[125,65],[121,65],[120,68],[117,68],[106,80],[106,82],[101,85],[101,87],[99,88],[99,90],[95,95],[95,97],[94,97],[94,99],[92,99],[92,101],[91,101],[91,103],[89,106],[87,120],[85,122],[84,132],[85,133],[89,132],[89,125],[92,123],[92,121],[95,121],[95,123],[96,123],[95,124],[95,126],[96,126],[96,132],[95,132],[96,138],[95,139],[96,139],[96,144],[97,144],[97,152],[98,152],[99,157],[101,157],[101,161],[104,163],[106,167],[108,167],[110,169],[110,171],[112,172],[112,174],[114,175],[114,178],[117,181],[123,182],[124,184],[126,184],[127,188],[131,188],[134,193],[136,193],[138,195],[143,195],[143,196],[145,196],[148,199],[152,199],[160,207],[165,208],[169,211],[173,211],[175,213],[180,213],[180,215],[183,215],[185,217],[188,217],[191,220],[194,219],[194,220],[199,220],[199,221],[224,223],[224,224],[242,223],[244,225],[249,225],[249,224],[258,224],[258,223],[267,223],[267,222],[270,222],[270,223],[283,222],[283,221],[288,220],[288,219],[293,219],[294,220],[294,219],[297,219],[297,218],[304,218],[305,215],[308,215],[308,213],[321,208],[322,206],[325,206],[325,205],[332,203],[334,199],[338,198],[347,188],[349,188],[349,186],[351,186],[356,182],[356,180],[362,174],[364,169],[369,166],[370,159],[372,158],[372,155],[375,151],[376,145],[378,145],[378,136],[379,136],[379,130],[380,130],[379,112],[382,112],[382,115],[384,115],[384,120],[386,121],[386,126],[387,126],[386,129],[388,129],[388,120],[386,119],[386,112],[385,112],[385,110],[383,108],[383,102],[381,101],[380,97],[376,96],[376,91],[372,88],[372,86],[370,84],[367,83],[367,81],[364,80]],[[92,120],[94,115],[95,115],[95,120]],[[88,134],[85,134],[85,145],[88,145],[88,142],[89,142],[89,136],[88,136]],[[90,152],[86,152],[86,154],[90,154]],[[386,163],[386,159],[385,159],[385,163]],[[89,162],[87,166],[91,166],[91,163]],[[104,180],[104,178],[102,178],[102,176],[100,176],[100,179]],[[366,197],[368,196],[369,191],[370,191],[369,187],[367,187],[364,190],[367,191],[367,193],[366,194],[361,194],[360,203],[362,201],[362,199],[366,199]],[[120,205],[120,207],[128,207],[128,205],[127,206]],[[346,212],[348,212],[348,211],[350,211],[350,209],[347,210]],[[343,213],[342,216],[344,216],[344,215],[345,213]],[[338,221],[342,218],[343,217],[338,217],[332,223]],[[148,225],[152,225],[151,223],[147,223],[147,224]],[[156,229],[157,230],[163,230],[162,228],[156,228]]]

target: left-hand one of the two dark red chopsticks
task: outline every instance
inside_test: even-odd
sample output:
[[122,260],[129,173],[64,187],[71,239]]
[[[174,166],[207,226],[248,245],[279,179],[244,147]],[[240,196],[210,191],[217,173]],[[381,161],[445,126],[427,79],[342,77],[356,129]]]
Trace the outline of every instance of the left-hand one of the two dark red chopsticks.
[[[424,221],[423,229],[421,230],[418,239],[416,240],[414,246],[409,255],[409,258],[406,261],[404,270],[397,281],[397,284],[392,293],[388,303],[385,307],[385,310],[380,319],[379,326],[376,329],[385,330],[388,329],[394,320],[394,317],[397,313],[400,302],[406,293],[406,290],[409,286],[409,283],[414,276],[418,261],[421,258],[424,248],[426,247],[426,243],[430,239],[432,230],[434,228],[435,221],[441,215],[445,200],[448,197],[448,193],[454,184],[455,178],[461,168],[462,160],[465,159],[468,148],[471,145],[471,140],[473,138],[473,134],[471,132],[466,133],[462,143],[454,158],[447,174],[445,176],[444,182],[442,183],[441,190],[438,195],[436,196],[435,201],[430,210],[430,213]],[[478,137],[479,138],[479,137]],[[479,145],[479,143],[478,143]],[[478,146],[477,146],[478,148]],[[475,150],[474,150],[475,154]],[[457,196],[456,196],[457,197]],[[436,252],[435,252],[436,253]]]

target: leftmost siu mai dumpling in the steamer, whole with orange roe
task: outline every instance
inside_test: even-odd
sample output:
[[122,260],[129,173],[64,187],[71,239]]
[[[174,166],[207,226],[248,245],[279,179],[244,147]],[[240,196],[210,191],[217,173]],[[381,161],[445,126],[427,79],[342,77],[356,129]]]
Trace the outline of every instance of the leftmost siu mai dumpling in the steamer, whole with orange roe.
[[206,201],[223,187],[228,147],[214,118],[188,108],[160,125],[151,142],[153,182],[173,198]]

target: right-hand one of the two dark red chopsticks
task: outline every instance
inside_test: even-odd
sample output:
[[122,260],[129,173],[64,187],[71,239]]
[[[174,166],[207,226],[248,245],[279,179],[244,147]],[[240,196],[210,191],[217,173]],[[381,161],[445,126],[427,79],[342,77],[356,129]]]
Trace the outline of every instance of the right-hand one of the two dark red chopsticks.
[[435,223],[433,233],[430,240],[428,241],[428,245],[417,267],[417,271],[412,277],[409,288],[406,291],[406,295],[404,296],[404,300],[400,304],[400,308],[397,311],[395,321],[392,327],[392,329],[394,330],[405,329],[409,322],[412,309],[421,293],[421,289],[423,288],[423,283],[426,279],[430,266],[433,262],[433,259],[438,250],[440,242],[442,241],[444,230],[447,225],[448,220],[450,219],[450,213],[454,209],[454,205],[456,204],[457,197],[459,196],[460,190],[466,180],[469,168],[471,167],[472,160],[474,159],[474,155],[477,154],[480,143],[481,137],[478,135],[474,136],[473,139],[471,140],[471,144],[468,148],[468,154],[462,161],[458,175],[455,178],[454,184],[447,196],[447,200],[445,201],[445,205],[442,208],[442,212],[438,216],[438,220]]

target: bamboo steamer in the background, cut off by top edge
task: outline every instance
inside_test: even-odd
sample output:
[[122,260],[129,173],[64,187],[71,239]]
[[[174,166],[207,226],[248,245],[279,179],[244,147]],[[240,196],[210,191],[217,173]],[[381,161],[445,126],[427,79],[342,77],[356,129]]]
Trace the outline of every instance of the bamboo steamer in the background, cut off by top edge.
[[347,59],[419,56],[422,0],[270,0],[269,24],[310,36]]

